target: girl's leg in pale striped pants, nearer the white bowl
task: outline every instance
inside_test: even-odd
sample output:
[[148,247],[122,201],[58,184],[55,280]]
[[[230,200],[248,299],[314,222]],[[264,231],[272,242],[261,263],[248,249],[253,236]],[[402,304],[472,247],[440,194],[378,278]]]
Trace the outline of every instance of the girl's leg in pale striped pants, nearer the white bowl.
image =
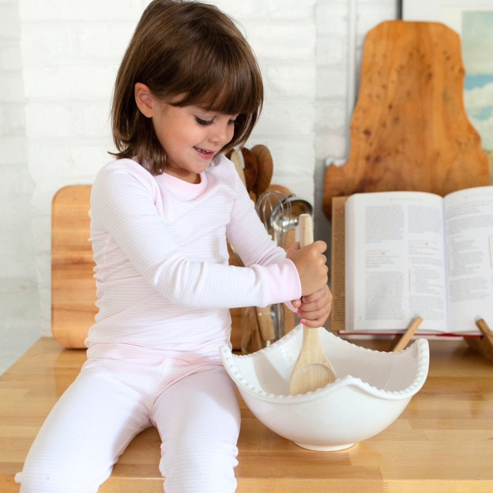
[[240,409],[233,382],[208,366],[168,387],[151,415],[162,439],[166,493],[233,493]]

